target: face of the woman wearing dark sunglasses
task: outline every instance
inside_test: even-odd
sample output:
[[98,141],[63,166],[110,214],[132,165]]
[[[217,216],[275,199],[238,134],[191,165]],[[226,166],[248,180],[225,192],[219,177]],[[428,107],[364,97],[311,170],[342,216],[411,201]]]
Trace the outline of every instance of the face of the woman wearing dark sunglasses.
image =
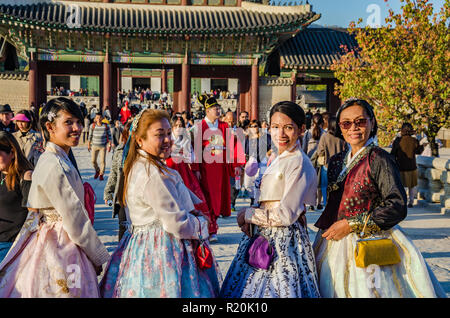
[[[365,124],[356,125],[354,122],[362,119],[366,119]],[[351,126],[348,129],[344,129],[343,123],[351,122]],[[352,153],[356,153],[359,149],[364,147],[367,140],[369,140],[370,132],[372,131],[374,121],[369,119],[366,111],[363,107],[354,105],[344,109],[339,116],[339,126],[341,128],[342,136],[345,141],[352,147]]]

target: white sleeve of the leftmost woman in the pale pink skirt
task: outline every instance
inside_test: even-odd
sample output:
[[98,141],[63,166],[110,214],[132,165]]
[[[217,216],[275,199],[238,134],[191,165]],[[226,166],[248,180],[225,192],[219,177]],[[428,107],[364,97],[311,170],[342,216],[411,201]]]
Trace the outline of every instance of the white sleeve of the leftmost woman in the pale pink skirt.
[[[45,186],[43,186],[45,185]],[[97,236],[87,216],[83,202],[72,188],[60,165],[48,169],[46,180],[38,187],[45,193],[52,207],[61,215],[64,230],[70,240],[78,245],[96,266],[109,260],[109,253]]]

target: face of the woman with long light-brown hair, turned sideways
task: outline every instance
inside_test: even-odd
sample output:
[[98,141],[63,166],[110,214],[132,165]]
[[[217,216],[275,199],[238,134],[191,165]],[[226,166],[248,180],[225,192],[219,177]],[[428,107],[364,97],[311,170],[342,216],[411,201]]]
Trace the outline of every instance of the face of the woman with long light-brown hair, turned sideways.
[[166,118],[155,121],[148,127],[145,138],[137,137],[136,141],[145,152],[161,159],[169,158],[173,144],[169,121]]

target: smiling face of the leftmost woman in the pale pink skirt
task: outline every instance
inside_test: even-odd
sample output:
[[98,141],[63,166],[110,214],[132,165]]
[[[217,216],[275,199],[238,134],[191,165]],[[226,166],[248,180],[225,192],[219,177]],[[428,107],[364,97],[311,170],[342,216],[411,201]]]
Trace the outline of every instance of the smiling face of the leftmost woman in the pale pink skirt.
[[56,115],[53,123],[47,122],[45,126],[50,134],[50,141],[68,153],[71,147],[78,146],[83,123],[65,110],[60,110]]

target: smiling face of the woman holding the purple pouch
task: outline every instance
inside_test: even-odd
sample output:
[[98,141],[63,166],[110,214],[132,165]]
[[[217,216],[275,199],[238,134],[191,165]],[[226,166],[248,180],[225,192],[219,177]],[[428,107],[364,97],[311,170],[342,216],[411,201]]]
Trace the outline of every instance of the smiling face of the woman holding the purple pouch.
[[276,112],[270,118],[270,134],[279,154],[292,148],[300,133],[301,130],[289,116]]

